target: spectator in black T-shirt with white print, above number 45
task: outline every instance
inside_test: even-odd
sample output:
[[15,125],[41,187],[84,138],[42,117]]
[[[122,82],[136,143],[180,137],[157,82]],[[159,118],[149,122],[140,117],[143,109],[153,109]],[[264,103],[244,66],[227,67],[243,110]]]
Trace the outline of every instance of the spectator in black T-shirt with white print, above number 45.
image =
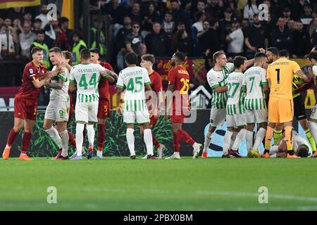
[[128,52],[139,54],[139,44],[145,44],[140,32],[139,23],[132,23],[132,32],[125,37],[125,48]]

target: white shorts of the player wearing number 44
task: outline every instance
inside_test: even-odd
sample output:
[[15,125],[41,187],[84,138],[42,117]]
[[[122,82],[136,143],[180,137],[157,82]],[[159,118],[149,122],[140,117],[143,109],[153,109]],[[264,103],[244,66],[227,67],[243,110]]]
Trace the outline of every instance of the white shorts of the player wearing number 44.
[[76,122],[98,122],[98,101],[91,103],[76,103],[75,120]]

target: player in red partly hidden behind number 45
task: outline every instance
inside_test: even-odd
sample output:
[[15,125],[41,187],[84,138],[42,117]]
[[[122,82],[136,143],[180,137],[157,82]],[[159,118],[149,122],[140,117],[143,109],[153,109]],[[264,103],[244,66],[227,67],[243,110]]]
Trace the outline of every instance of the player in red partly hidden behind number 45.
[[[162,100],[162,91],[163,91],[163,86],[162,86],[162,78],[159,73],[155,72],[153,70],[153,64],[155,63],[155,57],[153,55],[144,55],[141,58],[141,67],[147,69],[147,72],[149,73],[149,78],[151,80],[151,89],[152,91],[155,92],[156,96],[159,98],[159,103],[157,103],[157,107],[152,109],[151,105],[147,105],[149,108],[149,113],[150,113],[150,125],[151,129],[152,127],[156,124],[157,119],[160,115],[159,113],[159,105]],[[155,107],[155,106],[154,106]],[[140,127],[141,132],[143,132],[144,127]],[[152,139],[153,139],[153,144],[157,149],[158,152],[158,159],[161,159],[163,157],[163,149],[166,148],[163,144],[159,143],[157,141],[156,136],[152,133]],[[144,156],[142,159],[147,159],[147,155]]]

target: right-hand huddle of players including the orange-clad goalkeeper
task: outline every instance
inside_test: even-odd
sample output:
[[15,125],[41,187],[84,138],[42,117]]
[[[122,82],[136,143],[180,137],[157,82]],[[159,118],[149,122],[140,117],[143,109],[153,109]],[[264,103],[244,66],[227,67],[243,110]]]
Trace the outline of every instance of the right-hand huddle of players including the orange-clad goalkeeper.
[[[228,131],[223,141],[223,158],[240,158],[238,147],[246,139],[249,158],[259,158],[259,146],[265,139],[264,158],[317,156],[316,105],[309,121],[300,92],[315,84],[317,52],[309,53],[310,79],[299,65],[289,60],[289,53],[271,47],[259,49],[254,60],[236,56],[228,63],[225,53],[213,55],[215,66],[207,74],[213,96],[210,127],[204,141],[203,158],[216,127],[226,120]],[[269,63],[269,64],[268,64]],[[253,67],[248,68],[251,64]],[[246,70],[246,71],[245,71]],[[269,94],[268,94],[269,93]],[[302,125],[306,137],[292,131],[293,116]],[[258,124],[255,138],[253,131]],[[274,146],[271,146],[274,139]]]

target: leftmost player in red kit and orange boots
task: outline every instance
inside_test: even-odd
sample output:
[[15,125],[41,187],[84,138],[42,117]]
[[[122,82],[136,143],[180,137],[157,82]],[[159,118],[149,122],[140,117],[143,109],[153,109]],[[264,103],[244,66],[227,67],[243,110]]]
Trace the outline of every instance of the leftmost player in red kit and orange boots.
[[32,129],[37,117],[37,101],[40,88],[48,79],[56,76],[59,70],[47,72],[43,62],[43,49],[34,47],[31,50],[32,62],[27,63],[24,68],[22,85],[14,98],[14,127],[8,135],[6,148],[2,154],[4,160],[8,160],[11,146],[20,131],[24,127],[22,148],[19,160],[32,160],[27,156],[27,149],[30,146]]

